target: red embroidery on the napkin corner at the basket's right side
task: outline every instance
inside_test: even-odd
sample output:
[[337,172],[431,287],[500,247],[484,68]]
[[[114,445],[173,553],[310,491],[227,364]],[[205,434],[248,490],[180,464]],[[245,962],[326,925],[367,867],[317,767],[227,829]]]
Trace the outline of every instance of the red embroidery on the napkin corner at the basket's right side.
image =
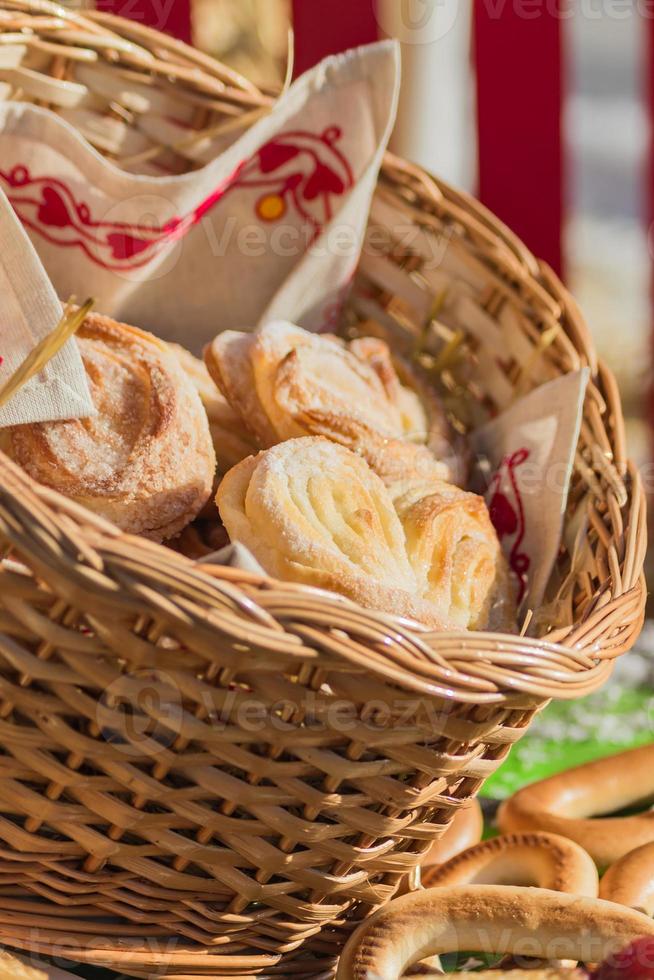
[[531,558],[521,551],[526,526],[516,470],[526,463],[529,456],[528,449],[518,449],[505,456],[488,491],[490,498],[488,509],[500,541],[503,538],[513,539],[509,552],[509,566],[518,580],[518,603],[522,602],[527,590],[527,574],[531,566]]

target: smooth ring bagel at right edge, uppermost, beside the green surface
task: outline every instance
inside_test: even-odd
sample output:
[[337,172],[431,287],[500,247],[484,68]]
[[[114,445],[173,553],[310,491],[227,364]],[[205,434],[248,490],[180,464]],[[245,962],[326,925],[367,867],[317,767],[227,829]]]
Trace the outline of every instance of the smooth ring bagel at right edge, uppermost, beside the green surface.
[[607,868],[654,841],[654,812],[603,815],[653,801],[654,745],[647,745],[526,786],[502,804],[498,822],[505,834],[560,834],[588,851],[600,868]]

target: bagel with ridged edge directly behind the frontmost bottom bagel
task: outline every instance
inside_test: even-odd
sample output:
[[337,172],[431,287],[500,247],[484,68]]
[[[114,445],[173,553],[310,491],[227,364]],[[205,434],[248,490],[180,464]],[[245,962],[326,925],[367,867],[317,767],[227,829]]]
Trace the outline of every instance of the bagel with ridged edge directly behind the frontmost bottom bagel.
[[506,834],[482,841],[438,868],[423,871],[425,888],[445,885],[525,885],[597,898],[595,863],[557,834]]

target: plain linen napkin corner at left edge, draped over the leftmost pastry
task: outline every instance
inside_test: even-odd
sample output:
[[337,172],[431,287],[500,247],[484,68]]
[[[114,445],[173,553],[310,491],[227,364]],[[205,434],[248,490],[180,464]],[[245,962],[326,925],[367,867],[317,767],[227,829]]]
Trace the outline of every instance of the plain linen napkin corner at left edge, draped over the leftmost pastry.
[[[0,191],[0,387],[57,326],[62,306],[9,201]],[[0,407],[0,428],[92,415],[75,340]]]

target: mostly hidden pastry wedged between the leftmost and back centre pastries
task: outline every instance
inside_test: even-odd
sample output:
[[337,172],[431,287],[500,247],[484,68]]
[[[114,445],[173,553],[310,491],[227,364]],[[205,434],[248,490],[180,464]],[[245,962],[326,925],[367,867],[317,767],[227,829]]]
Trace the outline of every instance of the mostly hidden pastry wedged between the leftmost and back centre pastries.
[[256,452],[258,445],[216,387],[204,361],[179,344],[170,344],[170,347],[197,389],[209,419],[218,471],[226,473],[246,456]]

